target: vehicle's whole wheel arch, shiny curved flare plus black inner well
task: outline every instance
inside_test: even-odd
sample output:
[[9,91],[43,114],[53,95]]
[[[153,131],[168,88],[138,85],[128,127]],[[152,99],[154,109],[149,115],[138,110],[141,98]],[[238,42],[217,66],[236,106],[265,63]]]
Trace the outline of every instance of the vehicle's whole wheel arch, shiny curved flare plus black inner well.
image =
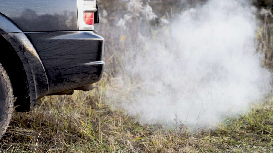
[[17,96],[16,111],[28,112],[37,99],[48,94],[46,71],[27,36],[3,14],[0,14],[0,42],[0,63]]

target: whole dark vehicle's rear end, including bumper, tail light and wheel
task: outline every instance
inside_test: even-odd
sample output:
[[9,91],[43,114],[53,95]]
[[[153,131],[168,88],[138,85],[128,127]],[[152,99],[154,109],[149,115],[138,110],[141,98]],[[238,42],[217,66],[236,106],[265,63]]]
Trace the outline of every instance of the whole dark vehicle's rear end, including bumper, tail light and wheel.
[[94,23],[96,0],[0,0],[0,138],[13,106],[94,88],[105,65]]

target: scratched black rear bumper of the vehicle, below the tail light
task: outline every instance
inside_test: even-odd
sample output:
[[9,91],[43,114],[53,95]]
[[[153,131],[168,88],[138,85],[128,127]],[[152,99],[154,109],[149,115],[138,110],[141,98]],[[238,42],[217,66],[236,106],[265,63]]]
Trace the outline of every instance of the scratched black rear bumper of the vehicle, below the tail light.
[[46,70],[48,94],[83,87],[100,80],[105,66],[102,60],[103,37],[92,31],[25,34]]

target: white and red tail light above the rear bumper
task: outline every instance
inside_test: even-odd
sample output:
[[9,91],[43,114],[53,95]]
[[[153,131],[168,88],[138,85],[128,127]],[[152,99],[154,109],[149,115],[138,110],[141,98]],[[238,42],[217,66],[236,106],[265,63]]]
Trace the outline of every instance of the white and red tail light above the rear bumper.
[[94,30],[98,23],[97,0],[77,0],[79,30]]

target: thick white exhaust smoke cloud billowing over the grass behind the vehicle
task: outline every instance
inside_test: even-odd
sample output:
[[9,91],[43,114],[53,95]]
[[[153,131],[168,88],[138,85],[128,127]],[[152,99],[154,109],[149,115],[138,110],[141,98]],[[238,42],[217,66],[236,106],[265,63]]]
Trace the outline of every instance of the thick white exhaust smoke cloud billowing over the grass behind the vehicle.
[[[134,6],[142,7],[146,20],[155,19],[149,5],[128,2],[138,10]],[[116,28],[135,38],[124,43],[130,49],[120,55],[124,67],[106,91],[109,103],[143,123],[198,127],[247,111],[271,81],[255,51],[254,13],[248,0],[209,0],[171,22],[160,19],[163,26],[143,34],[149,27],[132,28],[134,15],[140,16],[127,12]],[[119,43],[125,39],[121,35]]]

